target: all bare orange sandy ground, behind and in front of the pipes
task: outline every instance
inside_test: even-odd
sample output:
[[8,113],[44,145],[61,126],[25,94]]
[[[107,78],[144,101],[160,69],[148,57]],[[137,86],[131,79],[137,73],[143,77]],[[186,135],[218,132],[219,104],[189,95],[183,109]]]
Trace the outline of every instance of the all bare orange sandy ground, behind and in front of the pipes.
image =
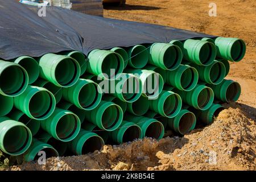
[[[214,1],[217,16],[209,17],[209,1],[127,0],[108,7],[108,18],[162,24],[245,40],[247,52],[232,63],[227,78],[240,82],[238,102],[226,105],[216,121],[184,137],[159,141],[146,138],[82,156],[51,158],[46,165],[26,163],[12,170],[255,170],[256,148],[256,1]],[[216,158],[213,156],[216,155]],[[216,161],[214,160],[216,159]],[[216,163],[215,163],[216,162]]]

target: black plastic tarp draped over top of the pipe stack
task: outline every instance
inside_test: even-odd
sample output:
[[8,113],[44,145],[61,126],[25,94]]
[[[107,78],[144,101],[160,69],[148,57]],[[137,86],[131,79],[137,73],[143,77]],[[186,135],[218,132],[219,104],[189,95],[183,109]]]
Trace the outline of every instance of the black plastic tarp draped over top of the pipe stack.
[[214,37],[154,24],[129,22],[86,15],[61,7],[38,7],[14,0],[0,0],[0,58],[77,50],[88,55],[93,49],[129,47],[135,44]]

